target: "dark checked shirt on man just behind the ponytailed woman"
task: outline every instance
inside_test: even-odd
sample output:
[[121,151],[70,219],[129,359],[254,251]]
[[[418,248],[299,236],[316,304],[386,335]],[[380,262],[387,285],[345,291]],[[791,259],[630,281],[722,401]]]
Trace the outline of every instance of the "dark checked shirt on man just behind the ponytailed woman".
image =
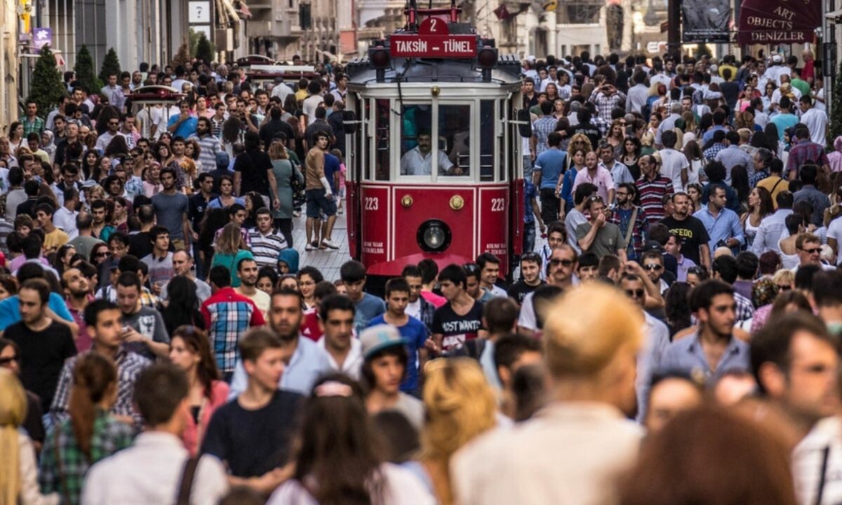
[[[93,351],[88,351],[93,353]],[[70,390],[73,381],[73,367],[76,366],[77,359],[83,354],[77,354],[64,362],[64,367],[61,369],[61,377],[58,380],[56,387],[56,396],[53,396],[52,406],[50,407],[50,415],[53,418],[53,423],[58,424],[67,419],[67,405],[70,401]],[[135,381],[141,371],[152,362],[144,358],[140,354],[135,354],[130,351],[120,349],[115,356],[115,364],[117,365],[117,401],[114,407],[111,407],[111,413],[115,416],[131,416],[134,417],[135,423],[139,428],[143,423],[143,419],[139,412],[135,409],[135,402],[131,395],[135,391]]]

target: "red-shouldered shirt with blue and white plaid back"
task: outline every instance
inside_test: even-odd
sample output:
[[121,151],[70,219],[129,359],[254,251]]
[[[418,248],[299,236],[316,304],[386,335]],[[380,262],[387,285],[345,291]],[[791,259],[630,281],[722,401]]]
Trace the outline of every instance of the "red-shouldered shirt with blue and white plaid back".
[[232,374],[240,358],[237,343],[240,335],[249,327],[265,324],[258,306],[245,296],[237,294],[234,288],[222,288],[210,296],[201,307],[208,328],[210,345],[216,364],[223,374]]

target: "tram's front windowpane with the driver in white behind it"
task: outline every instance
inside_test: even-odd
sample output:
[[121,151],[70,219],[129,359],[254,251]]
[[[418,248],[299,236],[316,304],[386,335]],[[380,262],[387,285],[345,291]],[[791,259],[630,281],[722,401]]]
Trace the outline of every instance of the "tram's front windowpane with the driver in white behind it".
[[401,113],[401,175],[429,176],[433,173],[432,126],[433,112],[429,104],[404,104]]

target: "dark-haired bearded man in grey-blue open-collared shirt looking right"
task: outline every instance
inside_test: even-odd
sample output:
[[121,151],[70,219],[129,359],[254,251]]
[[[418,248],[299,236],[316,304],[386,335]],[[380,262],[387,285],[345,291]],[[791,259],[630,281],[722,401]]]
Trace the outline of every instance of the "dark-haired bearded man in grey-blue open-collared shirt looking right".
[[690,292],[690,311],[699,320],[699,329],[669,344],[661,369],[701,371],[709,384],[729,372],[750,372],[749,344],[733,336],[737,321],[733,288],[721,280],[706,280]]

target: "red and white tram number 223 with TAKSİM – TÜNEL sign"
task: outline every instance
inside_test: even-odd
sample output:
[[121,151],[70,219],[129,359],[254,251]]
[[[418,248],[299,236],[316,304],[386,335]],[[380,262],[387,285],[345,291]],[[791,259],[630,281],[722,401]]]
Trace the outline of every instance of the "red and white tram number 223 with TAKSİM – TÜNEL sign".
[[411,6],[404,29],[346,66],[349,250],[370,275],[486,251],[508,274],[521,252],[520,61],[460,11]]

